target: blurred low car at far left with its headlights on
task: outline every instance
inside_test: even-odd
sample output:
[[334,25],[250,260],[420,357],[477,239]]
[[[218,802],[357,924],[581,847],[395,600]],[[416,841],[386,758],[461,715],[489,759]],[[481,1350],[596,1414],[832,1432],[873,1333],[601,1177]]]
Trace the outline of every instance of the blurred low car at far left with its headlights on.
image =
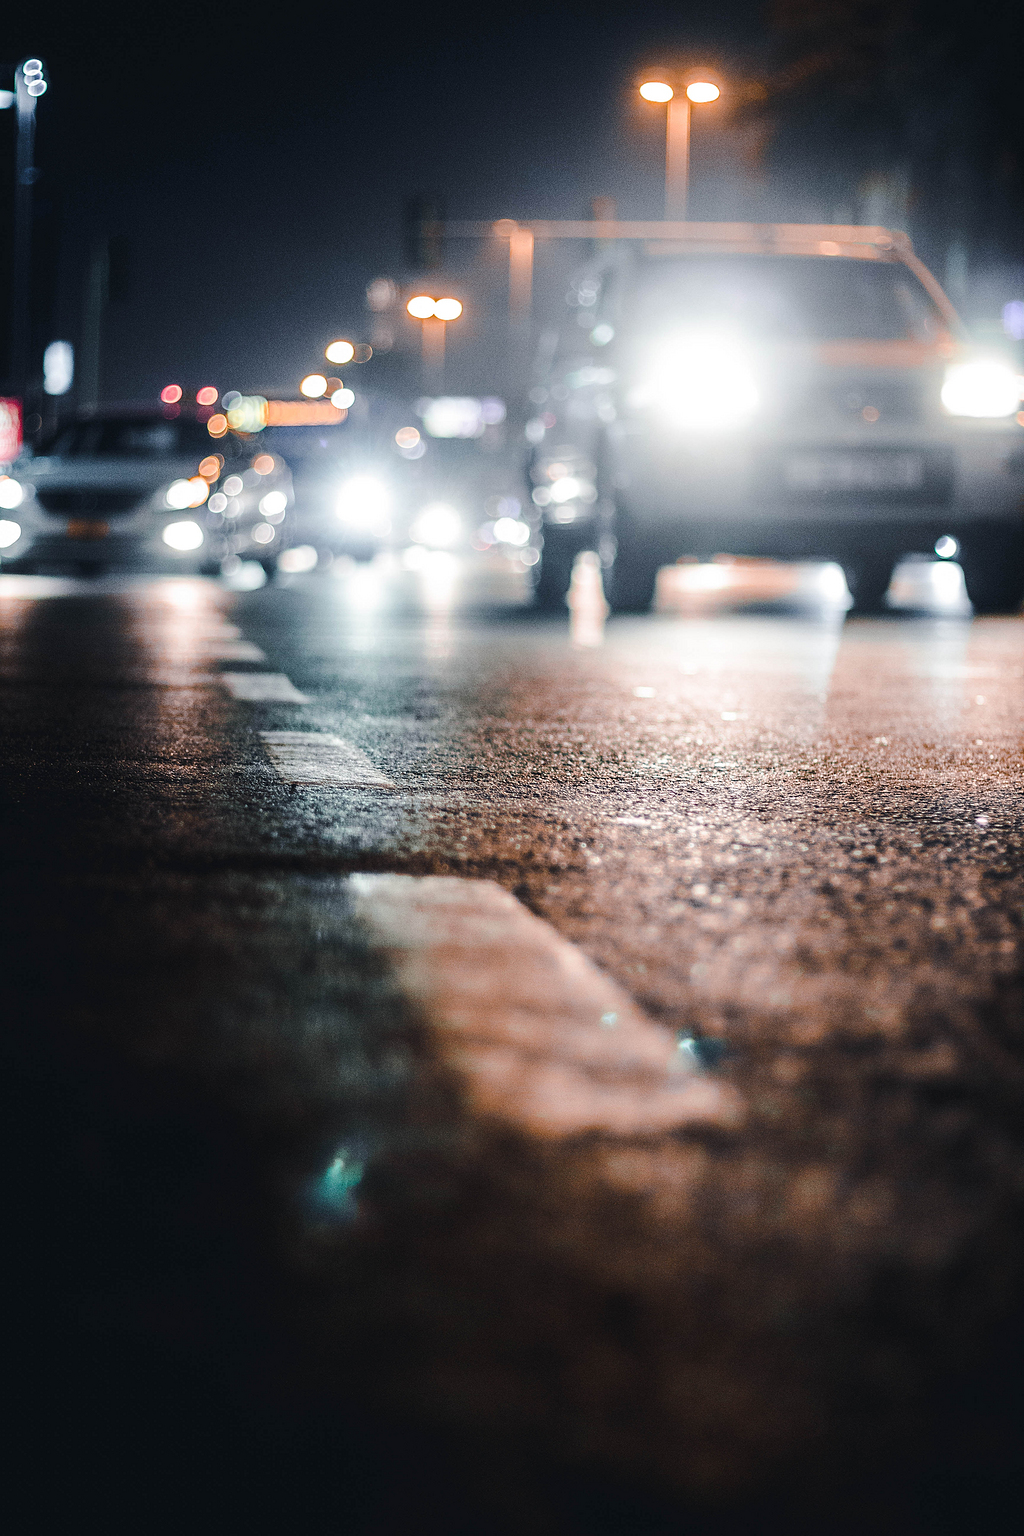
[[72,421],[0,478],[5,570],[216,573],[292,542],[284,459],[184,415]]

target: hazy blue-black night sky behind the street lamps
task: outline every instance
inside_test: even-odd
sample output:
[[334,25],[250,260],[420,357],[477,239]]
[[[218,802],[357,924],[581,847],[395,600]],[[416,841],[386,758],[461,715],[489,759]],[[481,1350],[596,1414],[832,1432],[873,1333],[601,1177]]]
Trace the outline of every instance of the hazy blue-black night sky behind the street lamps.
[[662,115],[637,103],[637,68],[689,55],[749,77],[772,46],[751,0],[642,12],[107,0],[26,15],[5,52],[8,65],[40,54],[51,77],[37,341],[77,339],[86,253],[114,238],[107,399],[169,378],[293,390],[324,339],[365,329],[367,281],[407,275],[402,207],[418,194],[462,218],[580,217],[596,195],[659,217]]

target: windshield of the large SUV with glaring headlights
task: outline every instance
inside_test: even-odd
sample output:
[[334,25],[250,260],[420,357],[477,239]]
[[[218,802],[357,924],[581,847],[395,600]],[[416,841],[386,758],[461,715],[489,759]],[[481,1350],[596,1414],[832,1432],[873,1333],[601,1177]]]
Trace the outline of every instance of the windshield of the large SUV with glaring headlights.
[[686,323],[755,341],[935,341],[949,330],[901,263],[847,257],[683,257],[645,263],[628,330]]

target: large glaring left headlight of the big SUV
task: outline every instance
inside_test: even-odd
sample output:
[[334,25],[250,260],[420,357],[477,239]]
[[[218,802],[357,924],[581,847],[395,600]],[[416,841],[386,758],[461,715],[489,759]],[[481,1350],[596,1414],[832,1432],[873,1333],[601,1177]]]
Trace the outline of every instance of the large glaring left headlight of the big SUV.
[[680,338],[659,352],[629,404],[651,407],[674,427],[722,432],[748,421],[760,404],[743,352],[728,339]]

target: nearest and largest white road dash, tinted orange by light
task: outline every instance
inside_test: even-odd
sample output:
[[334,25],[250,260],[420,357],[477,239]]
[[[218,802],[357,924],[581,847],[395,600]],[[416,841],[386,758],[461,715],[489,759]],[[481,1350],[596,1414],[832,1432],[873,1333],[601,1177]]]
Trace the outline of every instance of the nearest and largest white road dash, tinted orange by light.
[[491,880],[356,874],[345,885],[473,1114],[543,1137],[740,1121],[729,1083],[695,1068],[669,1031]]

